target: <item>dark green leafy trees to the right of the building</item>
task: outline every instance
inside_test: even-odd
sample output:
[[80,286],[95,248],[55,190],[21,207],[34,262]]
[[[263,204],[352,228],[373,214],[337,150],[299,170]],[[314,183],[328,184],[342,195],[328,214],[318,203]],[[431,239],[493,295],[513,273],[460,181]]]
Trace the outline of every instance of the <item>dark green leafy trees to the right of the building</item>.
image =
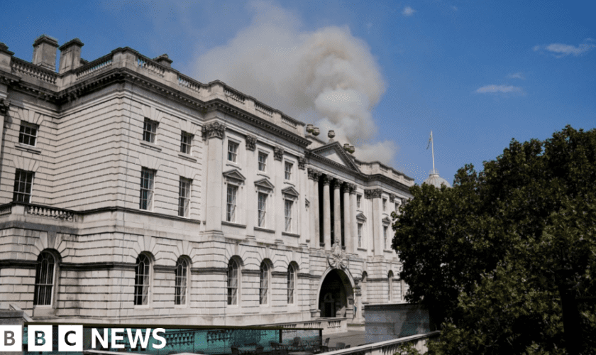
[[[441,324],[434,354],[566,354],[561,287],[596,296],[596,130],[512,141],[453,188],[410,189],[393,247],[409,302]],[[581,302],[596,353],[594,302]]]

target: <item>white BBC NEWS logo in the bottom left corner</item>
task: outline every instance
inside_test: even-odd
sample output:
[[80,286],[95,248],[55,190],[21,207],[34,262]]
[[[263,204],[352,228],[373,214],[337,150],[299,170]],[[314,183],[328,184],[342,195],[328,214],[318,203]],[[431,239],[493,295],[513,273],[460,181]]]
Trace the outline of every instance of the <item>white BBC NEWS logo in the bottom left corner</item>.
[[[124,337],[128,337],[128,344],[135,349],[140,346],[147,349],[150,337],[158,343],[151,342],[153,349],[162,349],[165,346],[165,329],[150,328],[136,329],[133,334],[131,328],[104,328],[99,332],[97,328],[91,328],[91,349],[97,349],[101,345],[103,349],[124,349],[121,344]],[[83,351],[83,326],[82,325],[58,325],[58,351]],[[0,351],[23,351],[23,327],[21,325],[0,325]],[[33,325],[27,326],[27,351],[53,351],[53,326]]]

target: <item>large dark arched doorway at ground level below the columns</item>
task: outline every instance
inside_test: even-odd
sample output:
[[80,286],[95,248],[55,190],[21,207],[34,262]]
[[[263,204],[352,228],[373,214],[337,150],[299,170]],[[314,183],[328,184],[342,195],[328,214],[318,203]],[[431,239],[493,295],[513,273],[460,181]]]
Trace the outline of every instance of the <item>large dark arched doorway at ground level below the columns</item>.
[[338,269],[329,271],[319,290],[321,317],[351,317],[353,297],[352,284],[348,275]]

